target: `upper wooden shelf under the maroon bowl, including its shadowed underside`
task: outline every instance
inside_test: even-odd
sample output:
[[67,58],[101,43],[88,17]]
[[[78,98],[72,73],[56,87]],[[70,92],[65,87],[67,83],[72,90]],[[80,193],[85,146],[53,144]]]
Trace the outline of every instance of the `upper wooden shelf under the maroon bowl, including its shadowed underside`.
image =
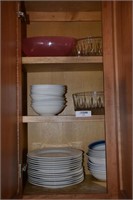
[[102,56],[22,57],[26,72],[45,71],[102,71]]

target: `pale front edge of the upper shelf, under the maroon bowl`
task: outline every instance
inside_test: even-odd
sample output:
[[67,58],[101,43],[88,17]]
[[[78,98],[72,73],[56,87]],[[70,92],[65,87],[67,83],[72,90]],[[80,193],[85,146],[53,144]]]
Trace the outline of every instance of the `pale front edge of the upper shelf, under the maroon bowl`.
[[22,64],[103,63],[102,56],[22,57]]

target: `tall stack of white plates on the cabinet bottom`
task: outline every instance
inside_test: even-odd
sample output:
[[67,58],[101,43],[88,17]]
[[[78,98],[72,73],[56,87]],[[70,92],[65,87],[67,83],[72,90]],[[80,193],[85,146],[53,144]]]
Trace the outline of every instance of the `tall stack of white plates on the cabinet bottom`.
[[84,180],[82,151],[71,147],[44,148],[27,154],[28,181],[47,188],[63,188]]

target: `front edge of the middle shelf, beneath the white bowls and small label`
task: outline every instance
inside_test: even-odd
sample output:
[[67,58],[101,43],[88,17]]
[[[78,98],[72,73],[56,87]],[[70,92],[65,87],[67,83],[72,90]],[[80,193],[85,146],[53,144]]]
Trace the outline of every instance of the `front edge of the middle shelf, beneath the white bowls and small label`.
[[75,116],[23,116],[23,123],[62,123],[77,121],[104,121],[104,115],[93,115],[91,117],[75,117]]

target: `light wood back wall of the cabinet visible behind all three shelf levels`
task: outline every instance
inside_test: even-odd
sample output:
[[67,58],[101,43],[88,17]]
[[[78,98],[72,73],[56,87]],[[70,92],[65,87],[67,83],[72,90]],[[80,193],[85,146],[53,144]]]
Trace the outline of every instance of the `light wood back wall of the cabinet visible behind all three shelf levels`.
[[[82,26],[82,28],[80,28]],[[86,28],[89,27],[89,28]],[[32,22],[27,27],[27,35],[63,35],[76,38],[101,35],[101,22]],[[53,64],[54,65],[54,64]],[[59,64],[60,65],[60,64]],[[69,64],[73,67],[73,64]],[[80,64],[82,70],[82,65]],[[86,64],[87,65],[87,64]],[[65,66],[67,68],[67,66]],[[64,67],[64,68],[65,68]],[[87,66],[86,66],[87,68]],[[72,94],[84,91],[103,91],[103,71],[53,71],[27,74],[28,115],[36,115],[31,108],[30,86],[32,84],[64,84],[67,85],[67,107],[60,115],[74,115]],[[81,123],[44,123],[28,125],[28,150],[37,145],[79,145],[87,152],[88,143],[104,138],[103,122]],[[71,142],[70,142],[71,141]],[[76,143],[76,144],[75,144]],[[78,146],[77,146],[78,147]]]

